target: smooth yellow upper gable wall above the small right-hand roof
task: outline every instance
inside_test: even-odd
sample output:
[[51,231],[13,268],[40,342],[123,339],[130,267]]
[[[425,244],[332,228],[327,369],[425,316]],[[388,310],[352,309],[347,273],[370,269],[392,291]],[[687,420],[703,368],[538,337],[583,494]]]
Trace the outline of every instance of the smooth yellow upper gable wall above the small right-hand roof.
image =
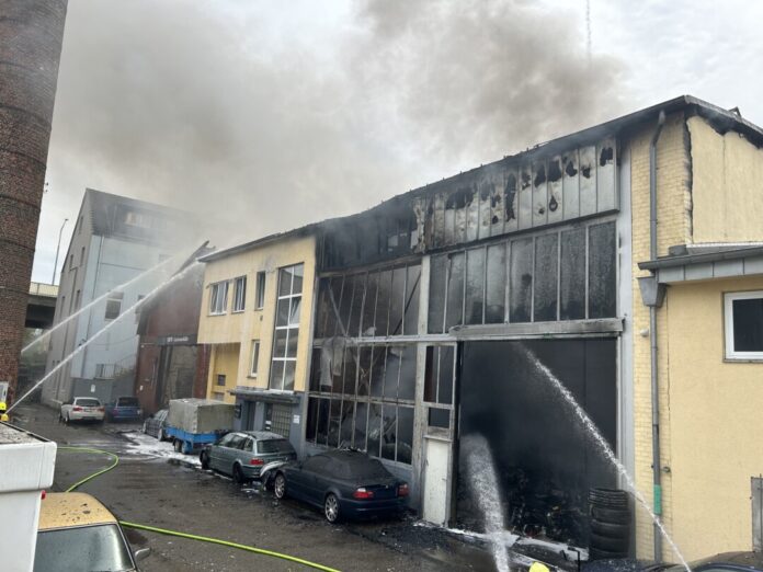
[[763,150],[736,131],[720,135],[701,117],[692,142],[694,242],[763,240]]

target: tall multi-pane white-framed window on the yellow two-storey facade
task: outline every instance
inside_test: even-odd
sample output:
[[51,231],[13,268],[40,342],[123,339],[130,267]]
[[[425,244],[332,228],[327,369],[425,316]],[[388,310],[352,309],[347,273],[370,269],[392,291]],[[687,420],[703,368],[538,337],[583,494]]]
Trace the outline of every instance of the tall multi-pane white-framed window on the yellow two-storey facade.
[[270,375],[271,389],[294,390],[304,273],[304,264],[295,264],[278,270],[278,298],[275,307],[273,364]]

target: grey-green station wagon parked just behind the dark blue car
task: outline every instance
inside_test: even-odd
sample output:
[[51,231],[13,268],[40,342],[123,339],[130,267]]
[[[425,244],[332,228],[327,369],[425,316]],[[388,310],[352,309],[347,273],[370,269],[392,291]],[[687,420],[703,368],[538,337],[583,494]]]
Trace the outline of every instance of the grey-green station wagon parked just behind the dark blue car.
[[212,445],[205,445],[198,456],[202,468],[230,474],[236,482],[260,478],[262,467],[275,461],[297,458],[292,444],[269,431],[236,431]]

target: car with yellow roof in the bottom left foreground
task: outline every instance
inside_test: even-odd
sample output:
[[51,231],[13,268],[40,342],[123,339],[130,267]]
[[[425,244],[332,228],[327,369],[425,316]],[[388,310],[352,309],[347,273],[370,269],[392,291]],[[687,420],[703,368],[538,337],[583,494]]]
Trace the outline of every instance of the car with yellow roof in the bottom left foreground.
[[34,572],[137,570],[149,548],[129,548],[116,517],[84,493],[48,493],[41,502]]

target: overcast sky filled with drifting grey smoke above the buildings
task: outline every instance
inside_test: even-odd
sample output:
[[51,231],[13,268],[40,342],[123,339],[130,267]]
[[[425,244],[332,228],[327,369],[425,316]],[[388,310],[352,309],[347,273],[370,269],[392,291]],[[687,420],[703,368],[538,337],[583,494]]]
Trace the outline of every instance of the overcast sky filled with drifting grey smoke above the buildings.
[[761,125],[762,21],[741,0],[69,0],[33,279],[86,187],[200,213],[227,247],[681,94]]

